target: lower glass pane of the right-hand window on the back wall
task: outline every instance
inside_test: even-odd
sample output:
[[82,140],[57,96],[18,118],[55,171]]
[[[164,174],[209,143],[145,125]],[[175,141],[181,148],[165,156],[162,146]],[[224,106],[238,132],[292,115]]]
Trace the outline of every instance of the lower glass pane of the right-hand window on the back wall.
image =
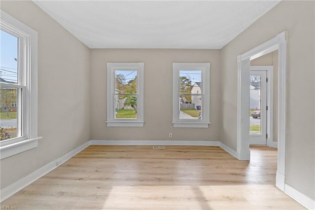
[[[188,102],[186,97],[190,97],[191,101],[194,103]],[[188,96],[180,95],[180,114],[179,119],[201,119],[201,96]]]

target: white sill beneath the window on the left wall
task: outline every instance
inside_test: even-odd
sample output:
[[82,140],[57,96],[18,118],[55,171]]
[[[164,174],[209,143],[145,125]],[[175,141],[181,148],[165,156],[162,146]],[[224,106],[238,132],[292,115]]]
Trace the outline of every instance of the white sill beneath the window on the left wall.
[[34,139],[21,140],[14,143],[8,143],[6,145],[0,144],[0,160],[12,155],[24,152],[26,150],[37,147],[38,140],[42,137],[37,137]]

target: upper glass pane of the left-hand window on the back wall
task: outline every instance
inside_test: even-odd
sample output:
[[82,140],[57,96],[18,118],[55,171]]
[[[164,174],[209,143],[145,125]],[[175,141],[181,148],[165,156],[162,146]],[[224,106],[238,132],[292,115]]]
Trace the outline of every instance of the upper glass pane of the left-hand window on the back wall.
[[137,71],[136,70],[116,70],[115,71],[116,92],[137,93]]

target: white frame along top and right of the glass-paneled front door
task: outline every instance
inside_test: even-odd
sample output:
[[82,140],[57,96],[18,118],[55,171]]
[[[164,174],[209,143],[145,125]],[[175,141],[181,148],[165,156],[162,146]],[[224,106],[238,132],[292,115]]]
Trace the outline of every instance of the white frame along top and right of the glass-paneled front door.
[[268,106],[268,110],[267,110],[267,134],[268,134],[268,138],[266,141],[266,145],[267,146],[271,146],[271,147],[277,147],[277,142],[273,141],[273,89],[274,89],[274,67],[273,66],[251,66],[250,67],[251,71],[255,71],[255,70],[266,70],[267,71],[267,78],[268,78],[268,82],[266,85],[266,100],[267,100],[267,106]]

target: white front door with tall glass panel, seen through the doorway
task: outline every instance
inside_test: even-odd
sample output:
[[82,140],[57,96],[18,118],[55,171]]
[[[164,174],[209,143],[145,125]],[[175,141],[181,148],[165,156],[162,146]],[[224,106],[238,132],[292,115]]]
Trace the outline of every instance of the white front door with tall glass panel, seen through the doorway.
[[267,71],[251,70],[250,144],[266,145]]

